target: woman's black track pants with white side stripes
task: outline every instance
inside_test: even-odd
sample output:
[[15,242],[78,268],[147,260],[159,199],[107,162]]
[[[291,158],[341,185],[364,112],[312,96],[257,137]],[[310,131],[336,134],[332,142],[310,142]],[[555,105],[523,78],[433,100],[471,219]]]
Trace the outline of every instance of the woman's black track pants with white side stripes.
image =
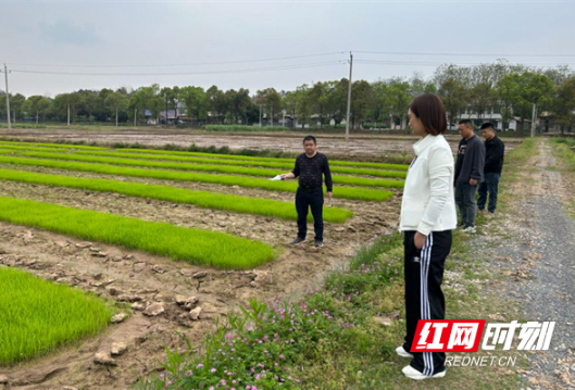
[[[441,291],[446,257],[451,250],[451,230],[433,231],[422,249],[415,248],[415,231],[404,231],[404,276],[407,336],[403,348],[410,352],[417,320],[445,319],[446,299]],[[443,352],[411,352],[411,366],[432,376],[445,369]]]

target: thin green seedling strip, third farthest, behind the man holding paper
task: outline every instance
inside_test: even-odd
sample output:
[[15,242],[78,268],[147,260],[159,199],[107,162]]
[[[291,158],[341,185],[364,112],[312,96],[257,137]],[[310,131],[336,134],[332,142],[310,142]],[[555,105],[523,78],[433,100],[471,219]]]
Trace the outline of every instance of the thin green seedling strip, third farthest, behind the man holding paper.
[[[112,164],[112,165],[127,165],[138,167],[152,167],[161,169],[179,169],[179,171],[196,171],[196,172],[214,172],[222,174],[235,174],[235,175],[248,175],[248,176],[263,176],[274,177],[278,174],[277,169],[265,169],[265,168],[250,168],[243,166],[220,166],[220,165],[204,165],[204,164],[187,164],[187,163],[171,163],[171,162],[157,162],[147,160],[134,160],[125,158],[104,158],[104,156],[91,156],[91,155],[79,155],[79,154],[63,154],[53,152],[23,152],[14,151],[13,153],[30,158],[50,159],[50,160],[66,160],[66,161],[82,161],[89,163],[99,164]],[[336,185],[349,185],[360,187],[384,187],[384,188],[403,188],[403,180],[392,179],[368,179],[363,177],[352,176],[334,176],[334,184]]]

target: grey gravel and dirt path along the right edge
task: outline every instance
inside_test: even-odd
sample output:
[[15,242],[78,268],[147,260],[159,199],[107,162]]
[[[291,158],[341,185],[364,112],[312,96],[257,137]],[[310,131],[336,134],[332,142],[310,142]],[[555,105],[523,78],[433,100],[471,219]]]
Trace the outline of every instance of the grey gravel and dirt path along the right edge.
[[495,235],[513,236],[492,250],[493,275],[507,275],[495,288],[522,307],[520,322],[555,322],[549,351],[525,352],[529,368],[520,373],[530,389],[575,389],[575,221],[564,209],[574,183],[557,166],[549,143],[539,141],[538,155],[510,188],[511,210],[488,224]]

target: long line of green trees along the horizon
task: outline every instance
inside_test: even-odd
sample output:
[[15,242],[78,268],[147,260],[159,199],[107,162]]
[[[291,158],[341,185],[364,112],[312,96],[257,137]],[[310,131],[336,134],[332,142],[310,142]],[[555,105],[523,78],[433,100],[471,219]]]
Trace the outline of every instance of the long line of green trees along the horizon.
[[[120,122],[141,123],[157,119],[161,112],[178,110],[193,124],[253,124],[264,118],[278,123],[284,115],[299,124],[320,126],[340,124],[347,114],[349,80],[303,84],[292,91],[266,88],[251,95],[249,89],[222,90],[196,86],[163,87],[158,84],[136,90],[78,90],[53,99],[43,96],[10,96],[11,114],[17,119],[36,123]],[[393,77],[373,83],[360,79],[351,86],[350,125],[362,128],[365,122],[376,127],[404,123],[407,106],[414,96],[438,93],[446,106],[448,122],[455,124],[465,111],[482,121],[497,110],[503,123],[520,117],[530,119],[533,104],[547,112],[562,128],[575,124],[575,74],[567,66],[536,68],[511,65],[503,61],[491,64],[441,65],[432,77],[414,74],[411,78]],[[1,95],[1,92],[0,92]],[[5,105],[0,117],[5,119]],[[136,121],[134,121],[136,119]]]

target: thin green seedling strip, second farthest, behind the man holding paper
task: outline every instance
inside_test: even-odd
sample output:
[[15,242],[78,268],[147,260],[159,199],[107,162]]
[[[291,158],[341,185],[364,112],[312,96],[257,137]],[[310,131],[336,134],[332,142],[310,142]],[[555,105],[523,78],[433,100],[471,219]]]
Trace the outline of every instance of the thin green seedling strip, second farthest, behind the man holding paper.
[[[61,151],[59,149],[46,148],[46,147],[28,147],[28,146],[15,146],[15,144],[4,144],[0,142],[0,148],[3,149],[14,149],[14,150],[33,150],[38,152],[52,152]],[[189,162],[195,164],[207,164],[207,165],[247,165],[247,166],[261,166],[261,167],[271,167],[291,171],[293,168],[293,161],[289,162],[268,162],[268,161],[238,161],[238,160],[225,160],[225,159],[208,159],[208,158],[190,158],[190,156],[176,156],[167,154],[136,154],[136,153],[124,153],[121,151],[108,152],[108,151],[91,151],[91,150],[75,150],[75,154],[92,154],[101,156],[111,156],[111,158],[129,158],[134,160],[161,160],[161,161],[176,161],[176,162]],[[375,168],[355,168],[355,167],[341,167],[341,166],[329,166],[332,173],[340,173],[347,175],[365,175],[365,176],[376,176],[376,177],[395,177],[395,178],[405,178],[405,172],[398,171],[382,171]],[[190,171],[193,171],[190,168]],[[199,171],[199,169],[196,169]],[[270,175],[266,174],[267,176]],[[386,186],[384,186],[386,187]]]

